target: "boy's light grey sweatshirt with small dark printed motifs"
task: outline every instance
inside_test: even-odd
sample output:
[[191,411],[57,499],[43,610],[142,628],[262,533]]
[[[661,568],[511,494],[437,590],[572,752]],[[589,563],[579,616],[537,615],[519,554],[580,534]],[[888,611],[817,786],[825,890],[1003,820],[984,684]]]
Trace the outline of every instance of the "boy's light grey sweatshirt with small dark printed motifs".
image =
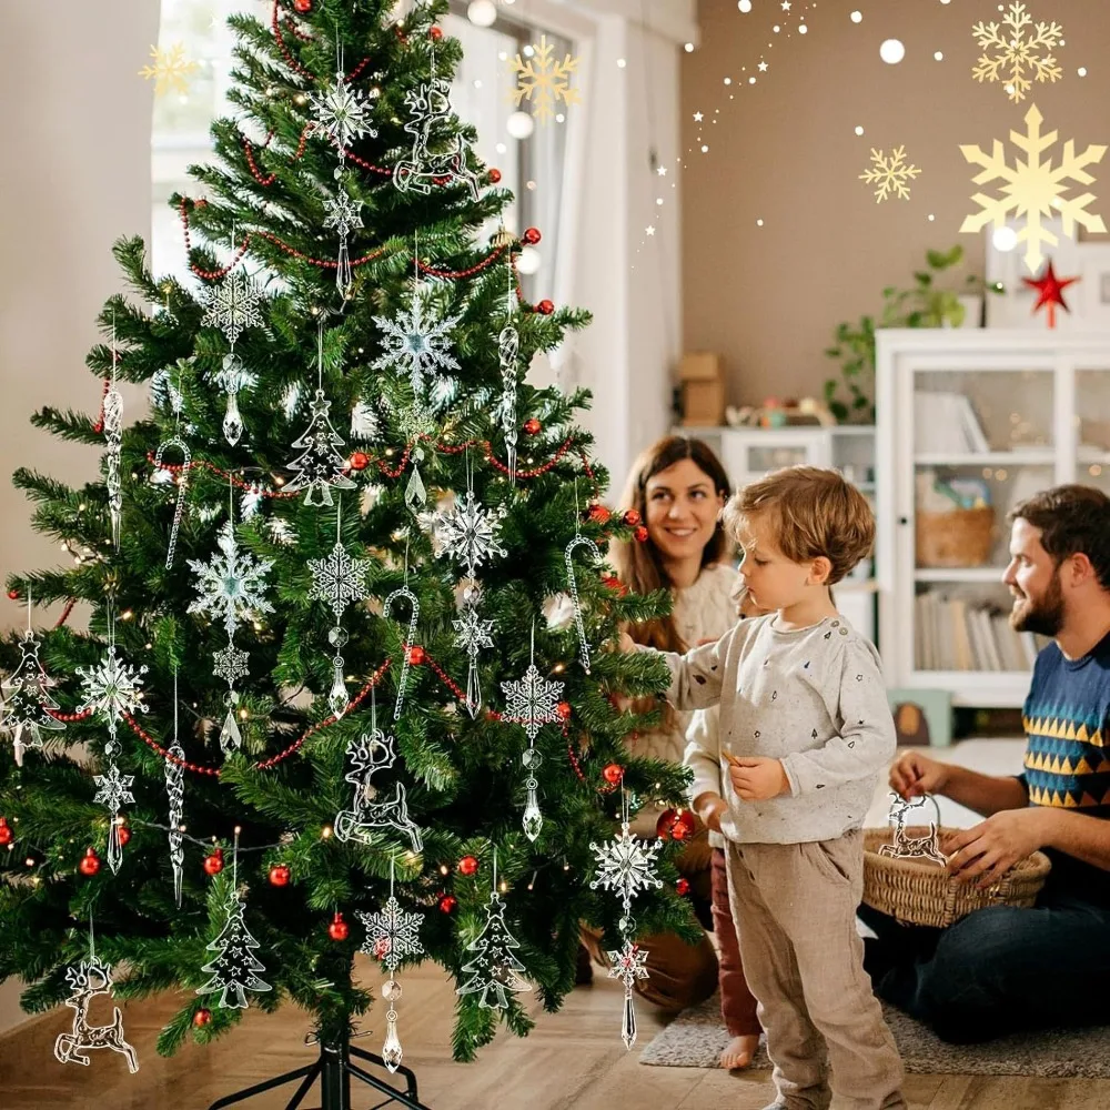
[[[776,619],[741,620],[686,655],[658,653],[670,668],[667,698],[676,708],[720,706],[719,727],[697,734],[684,761],[694,770],[692,799],[723,794],[722,833],[737,844],[829,840],[859,828],[895,754],[870,642],[840,617],[789,632]],[[726,753],[781,760],[789,793],[741,800]]]

